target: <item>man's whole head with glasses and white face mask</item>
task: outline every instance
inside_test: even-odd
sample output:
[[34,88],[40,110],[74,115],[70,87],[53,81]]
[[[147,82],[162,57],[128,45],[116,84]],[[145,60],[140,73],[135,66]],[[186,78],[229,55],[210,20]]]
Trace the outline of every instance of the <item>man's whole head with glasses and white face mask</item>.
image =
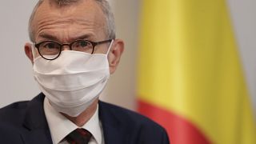
[[86,122],[123,51],[108,2],[40,0],[29,31],[34,44],[26,43],[25,53],[42,93],[58,112]]

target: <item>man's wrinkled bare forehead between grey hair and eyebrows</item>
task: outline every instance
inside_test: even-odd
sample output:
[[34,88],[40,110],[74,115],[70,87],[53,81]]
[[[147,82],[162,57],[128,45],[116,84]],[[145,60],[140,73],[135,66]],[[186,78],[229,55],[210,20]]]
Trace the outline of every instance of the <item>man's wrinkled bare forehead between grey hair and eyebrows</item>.
[[106,17],[98,3],[94,0],[81,0],[68,5],[59,5],[53,0],[45,0],[34,14],[32,21],[33,31],[36,33],[38,26],[50,22],[91,22],[97,27],[106,28]]

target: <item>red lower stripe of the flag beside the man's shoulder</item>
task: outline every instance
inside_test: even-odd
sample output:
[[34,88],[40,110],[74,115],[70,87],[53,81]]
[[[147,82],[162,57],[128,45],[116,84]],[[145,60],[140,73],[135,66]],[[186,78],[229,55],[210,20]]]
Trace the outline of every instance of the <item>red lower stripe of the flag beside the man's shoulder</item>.
[[170,111],[138,101],[138,111],[165,127],[171,144],[210,144],[210,140],[191,122]]

